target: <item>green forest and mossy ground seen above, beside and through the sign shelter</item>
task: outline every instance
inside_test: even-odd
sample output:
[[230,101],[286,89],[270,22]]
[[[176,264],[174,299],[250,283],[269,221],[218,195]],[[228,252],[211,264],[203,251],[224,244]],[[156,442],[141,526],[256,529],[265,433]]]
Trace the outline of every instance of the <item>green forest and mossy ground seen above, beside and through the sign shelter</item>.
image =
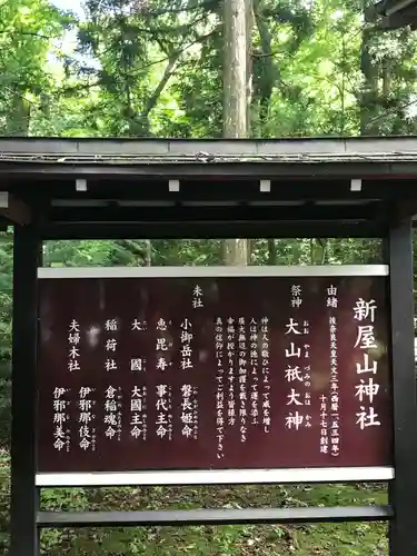
[[[57,0],[58,2],[58,0]],[[60,8],[58,8],[59,6]],[[363,0],[251,0],[249,137],[417,135],[417,36],[364,20]],[[71,11],[72,8],[72,11]],[[0,135],[218,138],[227,60],[220,0],[0,0]],[[224,244],[53,241],[48,266],[219,265]],[[377,241],[252,240],[247,264],[378,262]],[[12,232],[0,236],[0,554],[9,510]],[[50,489],[51,509],[384,503],[386,485]],[[42,554],[381,556],[379,524],[48,530]]]

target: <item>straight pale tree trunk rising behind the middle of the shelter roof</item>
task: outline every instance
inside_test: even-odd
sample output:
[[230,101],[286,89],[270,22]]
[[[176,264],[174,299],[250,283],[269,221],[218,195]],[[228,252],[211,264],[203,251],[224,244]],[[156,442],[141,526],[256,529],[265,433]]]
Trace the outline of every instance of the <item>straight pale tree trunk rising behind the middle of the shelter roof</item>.
[[[248,97],[250,82],[248,0],[224,1],[224,137],[245,139],[248,137]],[[248,264],[246,239],[226,239],[224,246],[226,265]]]

